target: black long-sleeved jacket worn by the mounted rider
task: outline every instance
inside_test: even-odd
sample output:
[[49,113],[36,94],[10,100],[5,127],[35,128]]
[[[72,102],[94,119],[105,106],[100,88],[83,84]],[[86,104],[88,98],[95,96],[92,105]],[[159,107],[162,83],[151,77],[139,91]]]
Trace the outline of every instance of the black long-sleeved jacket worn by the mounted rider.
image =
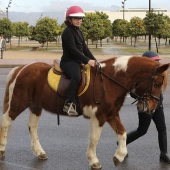
[[87,64],[90,59],[96,60],[88,49],[79,28],[67,26],[62,34],[63,55],[61,65],[67,61]]

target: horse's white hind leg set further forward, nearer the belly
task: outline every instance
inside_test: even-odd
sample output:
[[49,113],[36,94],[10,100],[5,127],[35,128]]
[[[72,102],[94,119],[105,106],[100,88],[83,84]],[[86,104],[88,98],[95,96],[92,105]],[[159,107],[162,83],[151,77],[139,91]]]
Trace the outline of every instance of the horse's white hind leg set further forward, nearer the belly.
[[41,115],[42,109],[30,108],[30,117],[28,121],[28,128],[31,136],[31,149],[35,155],[38,156],[39,159],[48,159],[45,151],[43,150],[37,133],[38,122]]

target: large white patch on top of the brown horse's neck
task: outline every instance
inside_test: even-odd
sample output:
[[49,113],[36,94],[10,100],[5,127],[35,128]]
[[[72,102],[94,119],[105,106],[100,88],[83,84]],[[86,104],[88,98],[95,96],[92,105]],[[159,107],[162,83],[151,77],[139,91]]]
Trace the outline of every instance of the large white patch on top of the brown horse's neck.
[[132,56],[121,56],[116,58],[113,66],[115,67],[115,71],[118,72],[120,70],[126,71],[127,70],[127,64],[129,59],[132,58]]

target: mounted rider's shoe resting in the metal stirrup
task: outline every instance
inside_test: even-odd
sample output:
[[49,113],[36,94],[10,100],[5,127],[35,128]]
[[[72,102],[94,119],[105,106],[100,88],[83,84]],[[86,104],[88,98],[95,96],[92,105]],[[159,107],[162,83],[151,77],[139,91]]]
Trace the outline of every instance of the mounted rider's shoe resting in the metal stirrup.
[[69,116],[78,116],[76,105],[74,103],[65,103],[63,111],[66,112]]

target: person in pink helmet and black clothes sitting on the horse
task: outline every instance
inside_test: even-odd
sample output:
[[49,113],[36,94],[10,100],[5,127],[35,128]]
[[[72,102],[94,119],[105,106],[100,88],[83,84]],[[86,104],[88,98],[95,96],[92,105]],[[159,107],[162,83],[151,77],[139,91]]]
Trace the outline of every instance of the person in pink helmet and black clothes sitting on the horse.
[[66,12],[66,28],[62,34],[63,55],[60,67],[70,78],[63,111],[77,116],[75,96],[81,81],[80,64],[95,66],[96,59],[88,49],[79,27],[85,13],[79,6],[71,6]]

